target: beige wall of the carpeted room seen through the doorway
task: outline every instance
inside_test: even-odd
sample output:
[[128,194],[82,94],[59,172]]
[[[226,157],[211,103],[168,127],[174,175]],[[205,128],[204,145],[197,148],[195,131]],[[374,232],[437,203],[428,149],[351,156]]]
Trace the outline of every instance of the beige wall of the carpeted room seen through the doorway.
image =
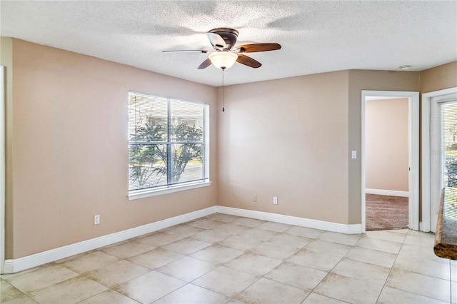
[[408,98],[366,101],[366,188],[408,191]]

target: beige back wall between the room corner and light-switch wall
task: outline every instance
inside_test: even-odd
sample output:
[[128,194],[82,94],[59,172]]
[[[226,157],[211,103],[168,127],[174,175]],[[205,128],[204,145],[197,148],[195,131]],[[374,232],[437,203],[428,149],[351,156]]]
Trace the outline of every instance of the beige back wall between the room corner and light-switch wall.
[[219,205],[348,223],[348,71],[224,90]]

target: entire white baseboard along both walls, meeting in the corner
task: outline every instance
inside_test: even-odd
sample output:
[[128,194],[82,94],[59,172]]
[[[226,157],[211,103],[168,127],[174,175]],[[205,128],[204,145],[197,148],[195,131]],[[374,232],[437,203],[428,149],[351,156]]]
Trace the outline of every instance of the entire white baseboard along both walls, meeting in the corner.
[[5,260],[4,262],[4,273],[17,273],[22,270],[34,268],[39,265],[51,263],[62,258],[68,258],[71,255],[84,253],[89,250],[101,248],[106,245],[121,242],[122,240],[128,240],[130,238],[136,238],[147,233],[152,233],[157,230],[175,226],[188,221],[193,221],[197,218],[209,216],[213,213],[224,213],[232,216],[243,216],[246,218],[256,218],[263,221],[272,221],[276,223],[284,223],[288,225],[302,226],[326,231],[333,231],[338,233],[355,234],[362,233],[361,224],[345,225],[340,223],[331,223],[325,221],[311,220],[308,218],[298,218],[296,216],[283,216],[276,213],[267,213],[261,211],[252,211],[246,209],[238,209],[224,206],[212,206],[199,211],[186,213],[181,216],[175,216],[173,218],[166,218],[163,221],[150,223],[144,226],[119,231],[117,233],[111,233],[104,235],[99,238],[92,238],[90,240],[83,240],[79,243],[66,245],[63,247],[46,250],[42,253],[36,253],[34,255],[27,255],[24,258],[16,258],[13,260]]

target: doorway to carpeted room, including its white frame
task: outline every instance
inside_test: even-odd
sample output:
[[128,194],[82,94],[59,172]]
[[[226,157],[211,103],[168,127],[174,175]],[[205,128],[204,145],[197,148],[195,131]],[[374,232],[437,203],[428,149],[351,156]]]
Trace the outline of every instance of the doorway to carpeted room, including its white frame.
[[363,232],[418,230],[418,96],[362,91]]

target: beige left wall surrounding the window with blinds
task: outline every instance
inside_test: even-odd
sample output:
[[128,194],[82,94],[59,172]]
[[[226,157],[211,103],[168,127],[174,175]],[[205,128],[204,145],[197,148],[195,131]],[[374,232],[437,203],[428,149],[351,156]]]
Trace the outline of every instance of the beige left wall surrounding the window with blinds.
[[[16,39],[13,50],[6,258],[216,205],[215,88]],[[211,186],[128,200],[129,91],[210,104]]]

